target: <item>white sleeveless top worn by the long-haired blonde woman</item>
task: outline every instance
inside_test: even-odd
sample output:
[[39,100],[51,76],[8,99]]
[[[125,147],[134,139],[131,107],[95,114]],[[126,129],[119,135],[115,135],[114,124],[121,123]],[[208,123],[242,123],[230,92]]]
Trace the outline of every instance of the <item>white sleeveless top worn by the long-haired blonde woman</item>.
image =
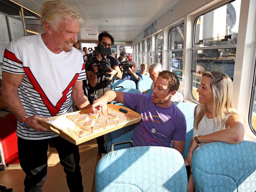
[[[197,106],[196,108],[196,114],[199,113],[200,111],[200,104]],[[226,115],[225,117],[225,123],[228,119],[228,117],[230,117],[232,115],[232,113],[229,113]],[[213,133],[215,132],[216,130],[214,129],[214,121],[215,121],[215,124],[217,123],[217,119],[214,118],[214,119],[209,119],[206,114],[203,116],[203,118],[201,119],[200,123],[198,124],[198,129],[196,130],[195,127],[193,129],[193,137],[200,134],[200,135],[207,135],[207,134],[210,134],[210,133]],[[225,127],[225,123],[224,125],[218,129],[218,130],[222,130],[222,129],[226,129]]]

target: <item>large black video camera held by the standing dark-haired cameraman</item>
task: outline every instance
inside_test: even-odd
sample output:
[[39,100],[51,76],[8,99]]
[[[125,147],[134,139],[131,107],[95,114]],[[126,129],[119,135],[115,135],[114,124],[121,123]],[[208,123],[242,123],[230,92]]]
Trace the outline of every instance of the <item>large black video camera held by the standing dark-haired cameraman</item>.
[[[110,69],[108,67],[111,67],[110,65],[110,60],[105,58],[105,56],[111,55],[111,48],[105,48],[103,45],[98,45],[97,47],[94,47],[94,50],[92,48],[88,48],[88,50],[91,52],[88,56],[88,64],[92,63],[92,58],[95,57],[96,55],[101,53],[101,60],[98,63],[98,71],[95,73],[96,75],[105,75],[105,76],[111,76],[106,74],[106,72],[110,72]],[[93,71],[94,73],[94,71]]]

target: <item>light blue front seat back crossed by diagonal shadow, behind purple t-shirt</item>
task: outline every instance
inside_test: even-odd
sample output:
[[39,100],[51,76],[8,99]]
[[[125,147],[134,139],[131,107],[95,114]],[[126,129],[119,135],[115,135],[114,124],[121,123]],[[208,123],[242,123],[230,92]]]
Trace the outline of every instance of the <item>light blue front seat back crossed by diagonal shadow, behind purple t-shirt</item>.
[[96,192],[187,191],[187,172],[175,149],[131,147],[99,160],[95,188]]

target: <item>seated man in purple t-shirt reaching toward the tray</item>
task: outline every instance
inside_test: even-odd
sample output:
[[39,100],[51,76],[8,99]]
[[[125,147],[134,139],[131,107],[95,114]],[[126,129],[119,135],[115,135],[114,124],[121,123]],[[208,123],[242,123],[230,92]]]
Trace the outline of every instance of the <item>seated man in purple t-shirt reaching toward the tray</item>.
[[153,87],[153,95],[107,91],[95,101],[96,106],[106,108],[107,102],[118,101],[129,106],[142,116],[142,120],[133,131],[133,142],[137,146],[163,146],[183,153],[186,140],[186,119],[179,108],[172,103],[171,97],[179,88],[179,79],[175,73],[162,71]]

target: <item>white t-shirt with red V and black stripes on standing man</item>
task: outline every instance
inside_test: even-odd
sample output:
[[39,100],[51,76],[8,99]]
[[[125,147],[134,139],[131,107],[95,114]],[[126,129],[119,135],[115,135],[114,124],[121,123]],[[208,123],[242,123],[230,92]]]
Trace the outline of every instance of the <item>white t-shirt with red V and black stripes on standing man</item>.
[[[24,75],[18,87],[22,105],[29,116],[46,118],[72,112],[72,87],[77,80],[86,79],[82,54],[75,48],[54,54],[41,34],[11,41],[4,52],[2,70]],[[17,136],[40,140],[57,135],[30,129],[18,121]]]

